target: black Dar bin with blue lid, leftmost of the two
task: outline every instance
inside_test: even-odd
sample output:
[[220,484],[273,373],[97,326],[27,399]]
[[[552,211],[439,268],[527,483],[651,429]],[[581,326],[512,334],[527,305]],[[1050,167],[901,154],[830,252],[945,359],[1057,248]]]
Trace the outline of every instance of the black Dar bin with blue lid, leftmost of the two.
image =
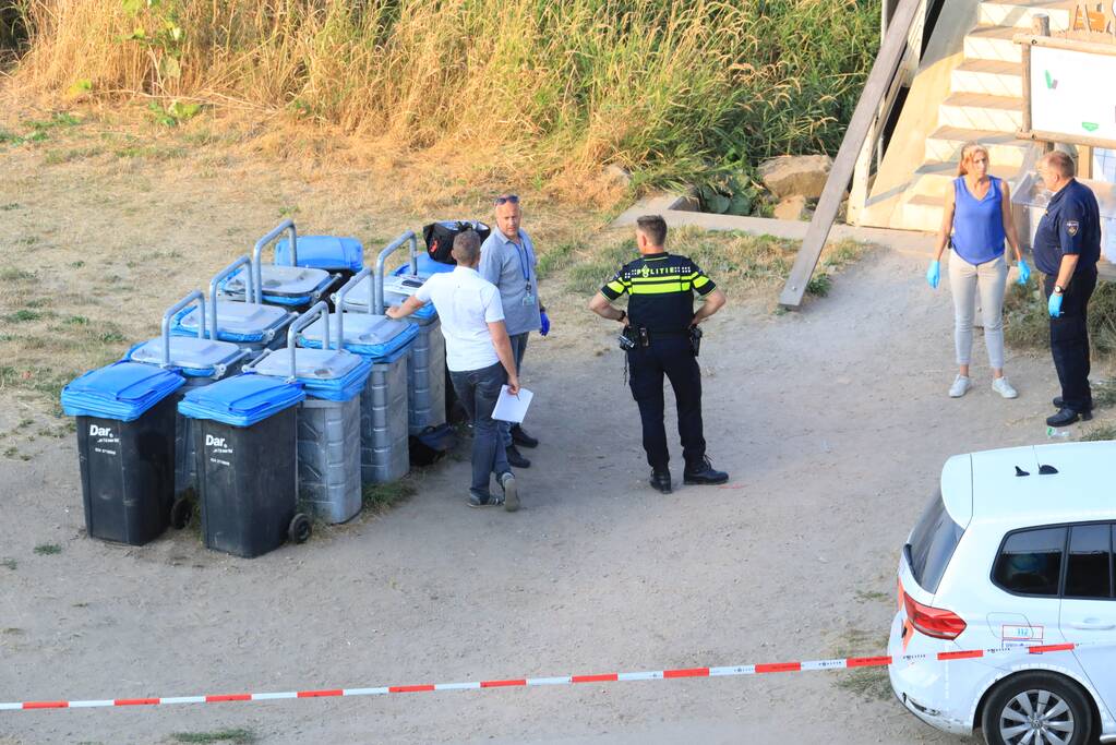
[[158,538],[174,503],[177,373],[119,361],[62,388],[77,417],[85,526],[90,538],[143,545]]

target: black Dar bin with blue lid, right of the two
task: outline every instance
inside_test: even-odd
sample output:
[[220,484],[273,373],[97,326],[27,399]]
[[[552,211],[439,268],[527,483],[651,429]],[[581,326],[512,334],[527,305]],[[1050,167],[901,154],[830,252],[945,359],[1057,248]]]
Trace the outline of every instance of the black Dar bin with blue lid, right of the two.
[[298,512],[296,409],[305,398],[298,383],[242,374],[179,403],[194,419],[206,548],[251,559],[309,536],[310,521]]

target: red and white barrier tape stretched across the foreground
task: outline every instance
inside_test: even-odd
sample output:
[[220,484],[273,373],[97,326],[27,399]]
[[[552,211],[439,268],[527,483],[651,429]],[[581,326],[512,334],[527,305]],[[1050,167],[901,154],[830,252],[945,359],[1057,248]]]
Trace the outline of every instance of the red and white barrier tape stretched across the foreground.
[[84,702],[11,702],[0,703],[0,712],[29,709],[97,708],[105,706],[156,706],[164,704],[221,704],[224,702],[269,702],[281,698],[326,698],[335,696],[383,696],[386,694],[417,694],[434,690],[474,690],[478,688],[510,688],[537,686],[569,686],[579,683],[616,683],[626,680],[673,680],[676,678],[718,678],[767,673],[812,673],[818,670],[844,670],[858,667],[886,667],[901,661],[936,659],[941,661],[975,659],[1003,654],[1042,655],[1070,651],[1079,644],[1001,647],[995,649],[970,649],[937,652],[935,655],[904,655],[891,657],[841,657],[838,659],[816,659],[799,662],[768,662],[759,665],[732,665],[729,667],[692,667],[673,670],[647,670],[642,673],[604,673],[598,675],[566,675],[556,678],[509,678],[503,680],[474,680],[470,683],[431,683],[410,686],[382,686],[378,688],[329,688],[321,690],[290,690],[273,694],[221,694],[208,696],[171,696],[160,698],[105,698]]

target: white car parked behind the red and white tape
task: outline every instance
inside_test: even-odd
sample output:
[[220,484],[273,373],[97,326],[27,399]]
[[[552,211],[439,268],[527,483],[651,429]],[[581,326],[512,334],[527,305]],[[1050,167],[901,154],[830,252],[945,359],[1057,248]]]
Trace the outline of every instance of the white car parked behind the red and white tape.
[[[903,705],[990,745],[1116,743],[1114,531],[1116,442],[950,458],[899,559]],[[939,657],[983,649],[998,651]]]

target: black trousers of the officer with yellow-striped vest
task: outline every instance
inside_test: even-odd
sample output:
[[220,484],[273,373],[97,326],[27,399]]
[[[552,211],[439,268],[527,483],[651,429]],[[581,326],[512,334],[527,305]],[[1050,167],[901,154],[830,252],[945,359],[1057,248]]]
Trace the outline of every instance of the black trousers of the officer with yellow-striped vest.
[[665,468],[671,459],[663,424],[663,376],[674,388],[679,407],[679,435],[686,468],[699,471],[705,456],[701,422],[701,369],[684,335],[653,338],[651,346],[628,352],[628,381],[639,405],[643,449],[652,468]]

